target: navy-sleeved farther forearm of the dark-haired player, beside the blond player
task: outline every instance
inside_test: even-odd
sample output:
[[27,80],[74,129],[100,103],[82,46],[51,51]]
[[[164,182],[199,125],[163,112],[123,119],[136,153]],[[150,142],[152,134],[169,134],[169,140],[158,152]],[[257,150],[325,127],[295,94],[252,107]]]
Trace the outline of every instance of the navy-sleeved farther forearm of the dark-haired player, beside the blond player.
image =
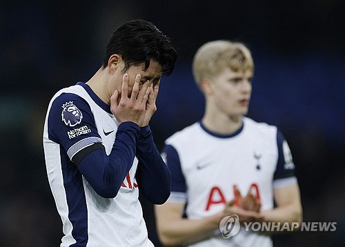
[[164,204],[170,195],[170,171],[161,159],[148,126],[141,128],[136,155],[139,190],[152,204]]

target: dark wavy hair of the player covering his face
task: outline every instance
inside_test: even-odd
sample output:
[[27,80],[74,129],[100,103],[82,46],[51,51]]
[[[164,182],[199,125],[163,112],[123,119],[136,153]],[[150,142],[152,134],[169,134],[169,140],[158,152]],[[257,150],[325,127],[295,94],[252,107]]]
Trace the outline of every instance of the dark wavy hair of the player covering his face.
[[136,19],[128,21],[112,33],[103,57],[103,68],[108,66],[111,55],[121,55],[124,60],[124,72],[130,66],[145,64],[150,60],[157,61],[162,67],[162,76],[168,76],[174,70],[177,52],[171,39],[151,22]]

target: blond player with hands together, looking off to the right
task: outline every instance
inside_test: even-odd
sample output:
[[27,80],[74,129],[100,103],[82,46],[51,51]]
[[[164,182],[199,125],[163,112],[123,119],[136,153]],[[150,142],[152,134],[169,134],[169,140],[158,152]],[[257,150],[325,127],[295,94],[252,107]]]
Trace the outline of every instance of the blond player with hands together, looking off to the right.
[[[244,117],[253,72],[250,51],[242,43],[211,41],[197,51],[193,74],[206,110],[201,121],[165,142],[162,157],[172,175],[171,195],[155,206],[163,244],[272,246],[272,232],[250,232],[244,222],[302,221],[286,140],[276,126]],[[226,237],[219,223],[231,215],[242,226]]]

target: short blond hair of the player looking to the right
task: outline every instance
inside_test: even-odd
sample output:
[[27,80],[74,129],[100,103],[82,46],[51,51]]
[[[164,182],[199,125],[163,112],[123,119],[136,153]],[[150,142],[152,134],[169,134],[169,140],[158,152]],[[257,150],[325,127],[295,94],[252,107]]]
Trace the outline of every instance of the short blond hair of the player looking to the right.
[[225,68],[235,72],[254,71],[250,50],[243,43],[228,40],[210,41],[197,50],[193,59],[193,75],[198,84],[202,79],[212,79]]

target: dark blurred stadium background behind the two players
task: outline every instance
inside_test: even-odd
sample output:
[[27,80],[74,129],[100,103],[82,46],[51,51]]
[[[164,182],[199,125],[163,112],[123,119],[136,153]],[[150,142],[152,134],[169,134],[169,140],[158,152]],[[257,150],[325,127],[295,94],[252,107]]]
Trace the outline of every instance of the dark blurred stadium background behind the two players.
[[[345,246],[345,2],[1,1],[0,246],[59,246],[61,220],[50,193],[41,134],[50,97],[87,81],[124,21],[146,19],[177,47],[161,83],[151,127],[160,149],[201,118],[204,99],[191,61],[202,43],[232,39],[253,52],[248,116],[284,133],[297,165],[304,221],[336,221],[335,232],[278,236],[276,246]],[[152,205],[141,199],[160,246]]]

